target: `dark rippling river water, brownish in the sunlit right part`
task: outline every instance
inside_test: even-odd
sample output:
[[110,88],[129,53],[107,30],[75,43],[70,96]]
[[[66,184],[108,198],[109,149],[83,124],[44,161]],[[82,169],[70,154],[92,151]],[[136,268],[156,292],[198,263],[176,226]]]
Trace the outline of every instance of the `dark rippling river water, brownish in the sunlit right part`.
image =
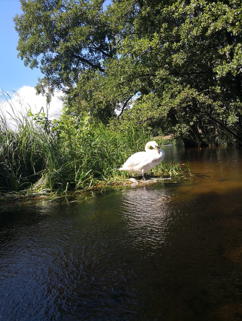
[[0,213],[0,320],[242,319],[242,151],[162,148],[195,177]]

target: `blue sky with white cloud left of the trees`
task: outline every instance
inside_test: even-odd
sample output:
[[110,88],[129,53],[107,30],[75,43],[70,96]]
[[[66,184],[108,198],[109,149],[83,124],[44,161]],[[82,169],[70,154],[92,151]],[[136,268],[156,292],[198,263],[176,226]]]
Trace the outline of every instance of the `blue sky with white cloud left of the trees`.
[[[46,107],[46,98],[36,96],[34,89],[38,77],[42,78],[39,69],[25,67],[21,58],[17,58],[18,34],[14,29],[13,17],[21,14],[19,0],[0,0],[0,91],[7,92],[12,98],[12,105],[17,111],[31,109],[38,112]],[[13,91],[18,92],[18,95]],[[62,110],[62,102],[58,99],[61,92],[55,93],[49,106],[49,115],[58,115]],[[22,100],[22,104],[19,101]],[[26,108],[23,108],[22,106]],[[11,108],[1,98],[0,109],[11,112]]]

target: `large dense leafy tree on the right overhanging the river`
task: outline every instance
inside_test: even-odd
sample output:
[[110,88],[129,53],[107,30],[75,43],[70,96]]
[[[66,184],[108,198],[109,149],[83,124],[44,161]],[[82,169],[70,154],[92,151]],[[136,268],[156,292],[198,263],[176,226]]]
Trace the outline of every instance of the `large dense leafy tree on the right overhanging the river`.
[[241,1],[140,4],[116,68],[142,82],[127,117],[185,143],[205,144],[218,128],[242,142],[241,13]]

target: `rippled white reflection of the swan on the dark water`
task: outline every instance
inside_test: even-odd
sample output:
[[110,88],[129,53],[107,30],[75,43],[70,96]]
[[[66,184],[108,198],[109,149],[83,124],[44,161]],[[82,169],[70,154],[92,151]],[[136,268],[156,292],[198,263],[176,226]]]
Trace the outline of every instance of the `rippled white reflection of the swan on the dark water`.
[[157,247],[157,240],[165,241],[170,198],[167,190],[149,186],[122,192],[119,210],[127,221],[128,239],[133,246],[153,249]]

